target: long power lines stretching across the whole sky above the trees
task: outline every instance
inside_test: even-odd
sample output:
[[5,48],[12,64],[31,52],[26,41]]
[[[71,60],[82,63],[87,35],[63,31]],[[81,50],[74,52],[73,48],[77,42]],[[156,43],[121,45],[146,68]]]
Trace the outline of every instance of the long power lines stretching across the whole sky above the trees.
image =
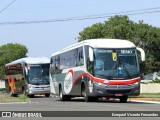
[[[117,13],[88,15],[88,16],[81,16],[81,17],[51,19],[51,20],[36,20],[36,21],[22,21],[22,22],[2,22],[2,23],[0,23],[0,25],[18,25],[18,24],[35,24],[35,23],[80,21],[80,20],[89,20],[89,19],[108,18],[108,17],[112,17],[113,15],[128,15],[128,16],[132,16],[132,15],[151,14],[151,13],[159,13],[160,12],[160,10],[155,10],[155,9],[160,9],[160,7],[139,9],[139,10],[133,10],[133,11],[125,11],[125,12],[117,12]],[[152,11],[148,11],[148,10],[152,10]]]

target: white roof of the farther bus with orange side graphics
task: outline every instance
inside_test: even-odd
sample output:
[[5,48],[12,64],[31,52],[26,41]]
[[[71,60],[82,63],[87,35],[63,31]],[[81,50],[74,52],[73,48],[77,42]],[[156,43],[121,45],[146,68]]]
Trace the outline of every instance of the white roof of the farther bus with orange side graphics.
[[27,63],[27,64],[45,64],[45,63],[50,63],[50,59],[46,57],[26,57],[26,58],[21,58],[15,61],[12,61],[7,65],[13,65],[13,64],[18,64],[18,63]]

